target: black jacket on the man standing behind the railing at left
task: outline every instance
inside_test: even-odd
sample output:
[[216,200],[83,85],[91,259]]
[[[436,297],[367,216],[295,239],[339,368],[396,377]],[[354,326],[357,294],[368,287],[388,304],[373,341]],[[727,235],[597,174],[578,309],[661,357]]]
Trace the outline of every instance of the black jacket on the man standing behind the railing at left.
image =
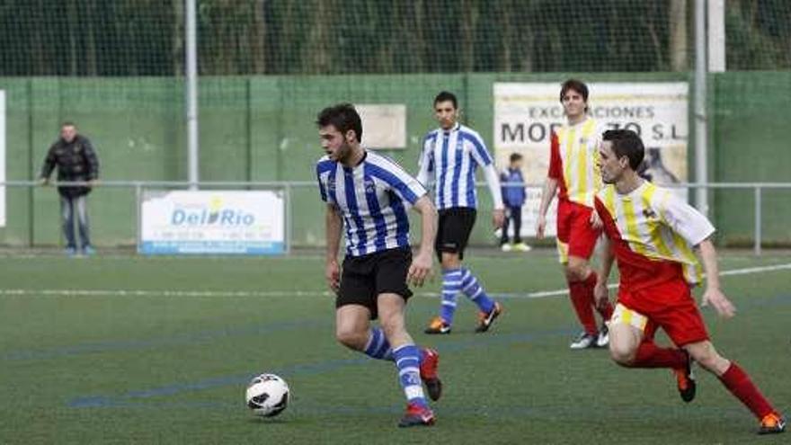
[[[44,166],[41,167],[41,177],[49,178],[56,165],[58,181],[91,181],[99,178],[99,158],[91,141],[82,135],[76,135],[71,143],[58,138],[49,147]],[[68,197],[82,196],[90,191],[90,187],[58,187],[58,192]]]

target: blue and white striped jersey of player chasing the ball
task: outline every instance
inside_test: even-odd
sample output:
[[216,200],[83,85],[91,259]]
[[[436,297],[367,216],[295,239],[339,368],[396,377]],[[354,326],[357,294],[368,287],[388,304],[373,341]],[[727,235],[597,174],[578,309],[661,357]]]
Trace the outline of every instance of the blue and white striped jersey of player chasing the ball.
[[426,189],[400,165],[369,151],[353,168],[323,156],[316,176],[322,200],[341,209],[347,255],[409,245],[406,210]]

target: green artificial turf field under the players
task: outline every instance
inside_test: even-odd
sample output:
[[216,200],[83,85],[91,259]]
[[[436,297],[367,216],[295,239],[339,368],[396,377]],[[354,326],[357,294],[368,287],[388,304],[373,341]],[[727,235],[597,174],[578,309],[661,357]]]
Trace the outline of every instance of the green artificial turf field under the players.
[[[723,271],[791,263],[726,253]],[[505,307],[474,334],[459,297],[453,334],[422,328],[439,280],[408,306],[416,343],[440,352],[438,422],[399,430],[392,363],[333,339],[333,298],[316,254],[288,258],[0,258],[0,443],[781,443],[716,378],[680,401],[669,370],[630,370],[573,352],[577,327],[552,251],[472,251],[468,265]],[[704,311],[717,348],[791,413],[791,269],[726,275],[738,315]],[[427,293],[433,294],[427,295]],[[540,294],[539,294],[540,295]],[[529,298],[533,297],[533,298]],[[660,337],[666,342],[664,337]],[[262,420],[244,387],[274,372],[291,405]]]

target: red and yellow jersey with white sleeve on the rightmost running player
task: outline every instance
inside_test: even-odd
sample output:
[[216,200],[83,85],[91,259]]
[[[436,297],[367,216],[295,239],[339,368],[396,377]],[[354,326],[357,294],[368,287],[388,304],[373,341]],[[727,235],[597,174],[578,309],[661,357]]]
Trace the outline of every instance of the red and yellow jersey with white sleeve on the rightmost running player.
[[645,181],[623,195],[607,185],[595,206],[618,259],[621,286],[637,290],[668,280],[701,280],[692,249],[715,228],[687,202]]

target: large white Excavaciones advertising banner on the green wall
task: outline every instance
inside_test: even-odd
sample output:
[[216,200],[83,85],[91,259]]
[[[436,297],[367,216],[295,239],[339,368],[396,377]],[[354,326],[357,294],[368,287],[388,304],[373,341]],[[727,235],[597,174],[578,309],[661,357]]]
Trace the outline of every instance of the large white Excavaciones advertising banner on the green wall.
[[[591,83],[591,116],[606,129],[633,129],[645,145],[641,174],[658,185],[687,182],[688,95],[686,82]],[[494,84],[494,153],[505,168],[511,153],[524,156],[525,182],[543,183],[552,130],[564,124],[560,83]],[[686,191],[681,190],[680,193]],[[527,190],[522,235],[535,236],[540,188]],[[555,235],[555,199],[547,212],[547,235]]]

